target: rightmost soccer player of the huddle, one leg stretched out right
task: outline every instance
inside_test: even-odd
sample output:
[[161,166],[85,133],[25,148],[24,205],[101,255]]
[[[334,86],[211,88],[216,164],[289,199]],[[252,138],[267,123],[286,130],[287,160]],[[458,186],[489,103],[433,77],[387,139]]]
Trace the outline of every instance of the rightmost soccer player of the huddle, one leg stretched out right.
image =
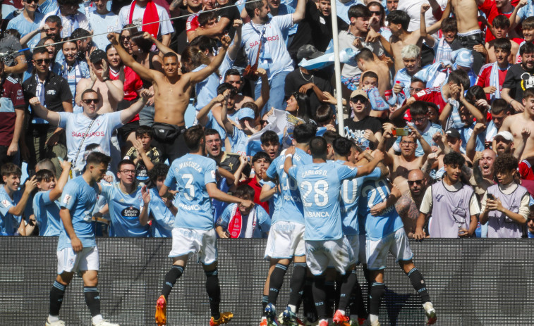
[[421,296],[428,325],[436,322],[436,313],[426,288],[425,280],[412,262],[413,253],[408,244],[408,236],[403,228],[402,220],[396,212],[396,197],[390,194],[385,179],[369,180],[363,184],[362,196],[359,201],[360,218],[365,218],[365,256],[367,268],[370,270],[372,286],[369,292],[369,320],[371,326],[380,326],[378,314],[380,302],[386,286],[384,270],[386,269],[387,253],[390,252],[401,268],[410,278],[415,291]]

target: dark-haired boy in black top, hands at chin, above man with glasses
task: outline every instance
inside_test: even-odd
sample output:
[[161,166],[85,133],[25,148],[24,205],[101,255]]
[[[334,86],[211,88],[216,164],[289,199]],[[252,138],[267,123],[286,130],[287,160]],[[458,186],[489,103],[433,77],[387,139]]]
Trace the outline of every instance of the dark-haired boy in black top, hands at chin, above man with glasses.
[[159,163],[162,154],[159,149],[150,146],[153,137],[152,128],[142,125],[135,130],[135,141],[126,156],[125,160],[132,160],[135,163],[135,175],[138,182],[149,182],[148,171],[154,168],[154,163]]

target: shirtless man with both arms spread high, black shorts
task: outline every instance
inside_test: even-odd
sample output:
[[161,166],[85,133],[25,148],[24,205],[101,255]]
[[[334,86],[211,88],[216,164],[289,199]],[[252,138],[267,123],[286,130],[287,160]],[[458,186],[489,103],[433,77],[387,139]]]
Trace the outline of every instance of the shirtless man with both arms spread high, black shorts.
[[207,67],[183,75],[179,73],[178,57],[172,52],[164,54],[164,72],[160,73],[136,62],[125,49],[119,46],[119,39],[115,34],[110,33],[108,39],[115,45],[125,65],[132,68],[142,79],[153,83],[155,113],[152,141],[154,146],[162,152],[163,159],[169,158],[171,162],[188,153],[182,133],[186,130],[183,114],[189,104],[191,89],[219,68],[230,44],[230,37],[225,35],[221,38],[222,47],[219,49],[219,54]]

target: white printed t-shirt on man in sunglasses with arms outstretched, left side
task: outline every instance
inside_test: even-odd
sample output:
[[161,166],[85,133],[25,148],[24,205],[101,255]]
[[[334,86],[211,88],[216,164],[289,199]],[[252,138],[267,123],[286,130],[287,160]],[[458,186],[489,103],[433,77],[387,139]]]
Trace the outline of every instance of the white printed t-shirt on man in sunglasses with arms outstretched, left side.
[[[59,112],[58,127],[65,129],[68,161],[74,161],[76,153],[78,153],[78,147],[80,147],[80,142],[91,122],[92,120],[83,113]],[[87,132],[88,135],[83,141],[82,148],[73,168],[80,170],[83,168],[83,152],[89,144],[99,144],[104,154],[110,155],[111,133],[116,128],[121,127],[121,125],[123,123],[120,111],[97,115],[95,122],[92,123],[89,132]]]

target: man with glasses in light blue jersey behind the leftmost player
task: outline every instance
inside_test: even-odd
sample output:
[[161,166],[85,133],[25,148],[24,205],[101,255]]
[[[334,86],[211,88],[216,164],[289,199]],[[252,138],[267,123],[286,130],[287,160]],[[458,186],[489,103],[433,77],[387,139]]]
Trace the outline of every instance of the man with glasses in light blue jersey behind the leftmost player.
[[[111,218],[111,237],[148,237],[148,225],[141,220],[148,219],[148,202],[146,186],[135,183],[135,163],[122,160],[117,165],[118,182],[99,184],[102,196],[109,205]],[[144,189],[144,192],[142,192]]]

